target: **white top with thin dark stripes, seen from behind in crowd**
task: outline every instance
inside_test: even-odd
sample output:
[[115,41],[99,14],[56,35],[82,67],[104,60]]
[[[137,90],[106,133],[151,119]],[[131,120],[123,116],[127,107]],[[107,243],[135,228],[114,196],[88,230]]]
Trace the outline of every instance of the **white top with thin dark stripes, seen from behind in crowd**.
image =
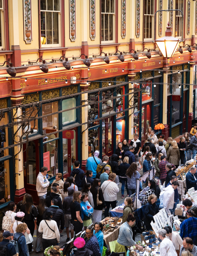
[[115,182],[104,181],[101,185],[101,189],[103,191],[103,197],[105,201],[117,200],[117,193],[119,192],[119,188]]

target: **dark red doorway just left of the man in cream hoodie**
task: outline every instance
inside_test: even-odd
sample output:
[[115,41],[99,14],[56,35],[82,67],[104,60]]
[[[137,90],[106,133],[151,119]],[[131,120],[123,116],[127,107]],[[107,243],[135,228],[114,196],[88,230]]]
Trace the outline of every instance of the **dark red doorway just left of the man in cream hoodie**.
[[32,195],[34,203],[39,201],[36,191],[36,178],[40,171],[39,147],[39,140],[23,144],[24,187],[26,193]]

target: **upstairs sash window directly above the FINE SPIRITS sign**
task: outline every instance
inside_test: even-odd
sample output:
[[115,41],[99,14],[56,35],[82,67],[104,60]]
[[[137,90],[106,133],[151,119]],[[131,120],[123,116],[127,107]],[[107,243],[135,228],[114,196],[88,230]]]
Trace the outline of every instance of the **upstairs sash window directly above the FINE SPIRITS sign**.
[[154,0],[144,0],[144,39],[153,38]]

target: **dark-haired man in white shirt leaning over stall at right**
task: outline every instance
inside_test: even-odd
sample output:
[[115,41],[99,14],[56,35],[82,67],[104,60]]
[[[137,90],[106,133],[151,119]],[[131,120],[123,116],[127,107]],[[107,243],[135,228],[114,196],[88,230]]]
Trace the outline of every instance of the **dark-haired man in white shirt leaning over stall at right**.
[[173,209],[174,206],[174,190],[177,189],[179,186],[178,181],[173,181],[172,185],[169,185],[165,188],[164,194],[163,194],[163,207],[166,210],[167,214],[170,216],[173,211],[170,211],[170,209]]

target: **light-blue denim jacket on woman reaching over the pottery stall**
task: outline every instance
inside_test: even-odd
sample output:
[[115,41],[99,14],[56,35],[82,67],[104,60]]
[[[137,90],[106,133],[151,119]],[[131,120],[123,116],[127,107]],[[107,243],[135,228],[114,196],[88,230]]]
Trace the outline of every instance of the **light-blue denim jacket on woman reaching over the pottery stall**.
[[131,227],[129,226],[128,222],[124,222],[119,231],[119,236],[117,242],[124,246],[131,246],[135,245],[136,242],[133,241],[133,232]]

